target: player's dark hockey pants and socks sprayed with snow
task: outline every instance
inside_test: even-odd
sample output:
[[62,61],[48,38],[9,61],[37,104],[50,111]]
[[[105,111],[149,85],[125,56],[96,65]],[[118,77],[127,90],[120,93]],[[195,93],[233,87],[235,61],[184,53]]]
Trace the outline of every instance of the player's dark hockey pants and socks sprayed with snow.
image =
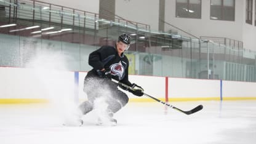
[[79,106],[83,114],[94,109],[97,98],[104,98],[110,113],[116,113],[129,101],[129,97],[118,89],[118,84],[110,79],[98,78],[97,76],[86,76],[84,92],[86,92],[88,100]]

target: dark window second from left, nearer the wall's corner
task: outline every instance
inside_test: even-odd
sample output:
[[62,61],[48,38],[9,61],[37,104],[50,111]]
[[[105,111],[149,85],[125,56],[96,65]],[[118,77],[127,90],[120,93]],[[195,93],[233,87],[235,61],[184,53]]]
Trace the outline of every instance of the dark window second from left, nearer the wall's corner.
[[234,0],[211,0],[210,19],[234,21]]

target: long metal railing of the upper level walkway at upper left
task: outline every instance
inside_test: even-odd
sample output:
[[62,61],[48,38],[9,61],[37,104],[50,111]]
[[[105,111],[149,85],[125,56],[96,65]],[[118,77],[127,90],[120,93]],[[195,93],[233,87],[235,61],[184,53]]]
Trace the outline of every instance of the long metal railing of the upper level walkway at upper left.
[[[98,14],[93,12],[59,6],[47,2],[34,0],[0,0],[0,2],[1,5],[6,6],[5,11],[6,16],[9,18],[9,23],[15,22],[17,18],[24,18],[32,20],[33,24],[36,20],[45,20],[49,25],[51,23],[60,23],[60,26],[72,25],[98,29],[98,22],[106,22],[104,19],[100,20]],[[115,22],[116,24],[118,23],[118,25],[150,30],[150,25],[125,20],[117,15],[115,17]]]

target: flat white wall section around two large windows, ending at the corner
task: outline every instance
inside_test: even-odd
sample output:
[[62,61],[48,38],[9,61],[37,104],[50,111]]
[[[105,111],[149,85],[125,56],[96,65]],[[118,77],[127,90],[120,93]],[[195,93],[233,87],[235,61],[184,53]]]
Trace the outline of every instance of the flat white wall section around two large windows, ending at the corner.
[[[195,36],[217,36],[242,41],[242,1],[236,1],[235,22],[210,20],[210,0],[202,1],[201,19],[175,17],[176,1],[166,1],[166,22]],[[169,30],[167,27],[166,30]]]

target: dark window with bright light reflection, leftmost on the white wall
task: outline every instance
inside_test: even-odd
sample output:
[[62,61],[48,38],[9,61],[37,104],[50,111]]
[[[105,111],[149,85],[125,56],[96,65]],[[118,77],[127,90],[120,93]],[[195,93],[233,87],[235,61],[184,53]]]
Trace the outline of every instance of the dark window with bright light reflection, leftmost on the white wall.
[[176,0],[176,17],[201,18],[201,0]]

